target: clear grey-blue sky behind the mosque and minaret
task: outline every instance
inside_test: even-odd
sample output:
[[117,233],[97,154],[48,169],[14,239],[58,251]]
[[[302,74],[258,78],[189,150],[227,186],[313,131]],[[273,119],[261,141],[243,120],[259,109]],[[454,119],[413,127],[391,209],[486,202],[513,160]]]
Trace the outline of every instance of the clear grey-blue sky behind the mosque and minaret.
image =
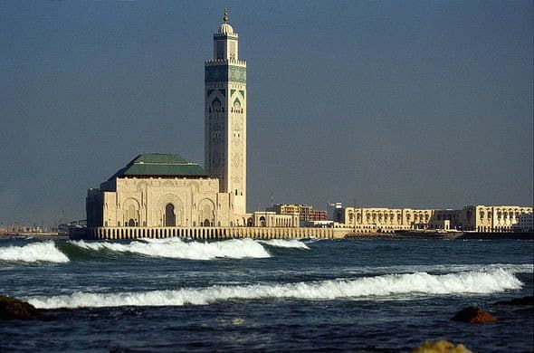
[[204,165],[247,61],[247,209],[532,205],[532,1],[0,1],[0,223],[85,218],[141,153]]

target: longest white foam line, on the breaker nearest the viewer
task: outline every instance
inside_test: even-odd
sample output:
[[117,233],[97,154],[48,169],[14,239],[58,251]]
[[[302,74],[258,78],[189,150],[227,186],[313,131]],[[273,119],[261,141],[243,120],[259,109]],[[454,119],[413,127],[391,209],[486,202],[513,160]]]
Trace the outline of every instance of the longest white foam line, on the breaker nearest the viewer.
[[71,295],[28,298],[37,308],[78,308],[116,306],[180,306],[205,305],[231,299],[334,300],[377,299],[392,296],[465,295],[520,289],[522,283],[504,269],[490,272],[458,272],[432,275],[425,272],[386,274],[355,279],[274,283],[206,288],[185,288],[174,291],[143,291],[122,293],[75,292]]

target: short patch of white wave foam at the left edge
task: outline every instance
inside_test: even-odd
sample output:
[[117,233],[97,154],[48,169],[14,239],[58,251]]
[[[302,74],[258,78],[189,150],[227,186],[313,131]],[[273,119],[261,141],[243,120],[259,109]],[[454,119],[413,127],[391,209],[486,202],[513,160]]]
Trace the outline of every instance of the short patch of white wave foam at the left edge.
[[69,258],[60,252],[53,242],[0,247],[0,260],[14,262],[69,262]]

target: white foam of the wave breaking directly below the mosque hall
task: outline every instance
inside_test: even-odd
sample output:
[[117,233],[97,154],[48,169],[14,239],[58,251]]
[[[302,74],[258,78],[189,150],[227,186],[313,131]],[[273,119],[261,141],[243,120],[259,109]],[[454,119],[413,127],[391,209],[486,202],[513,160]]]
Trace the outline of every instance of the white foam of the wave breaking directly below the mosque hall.
[[142,239],[131,243],[89,243],[72,241],[84,249],[109,250],[118,253],[139,253],[152,257],[176,259],[212,260],[215,258],[266,258],[271,255],[262,244],[252,239],[232,239],[223,242],[185,242],[180,238]]

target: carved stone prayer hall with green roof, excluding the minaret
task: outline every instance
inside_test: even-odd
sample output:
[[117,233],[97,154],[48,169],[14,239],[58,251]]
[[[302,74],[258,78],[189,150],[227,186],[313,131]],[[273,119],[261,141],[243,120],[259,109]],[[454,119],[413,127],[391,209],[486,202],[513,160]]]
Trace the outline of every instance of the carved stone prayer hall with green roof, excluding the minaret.
[[139,155],[87,196],[89,227],[235,226],[234,196],[176,155]]

